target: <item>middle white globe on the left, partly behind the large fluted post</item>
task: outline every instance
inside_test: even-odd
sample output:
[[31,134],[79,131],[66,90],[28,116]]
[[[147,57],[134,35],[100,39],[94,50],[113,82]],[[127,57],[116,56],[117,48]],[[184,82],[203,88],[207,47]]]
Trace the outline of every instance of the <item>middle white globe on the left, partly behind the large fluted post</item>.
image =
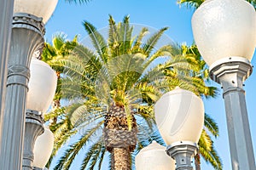
[[45,112],[55,96],[57,76],[44,61],[32,58],[26,109]]

